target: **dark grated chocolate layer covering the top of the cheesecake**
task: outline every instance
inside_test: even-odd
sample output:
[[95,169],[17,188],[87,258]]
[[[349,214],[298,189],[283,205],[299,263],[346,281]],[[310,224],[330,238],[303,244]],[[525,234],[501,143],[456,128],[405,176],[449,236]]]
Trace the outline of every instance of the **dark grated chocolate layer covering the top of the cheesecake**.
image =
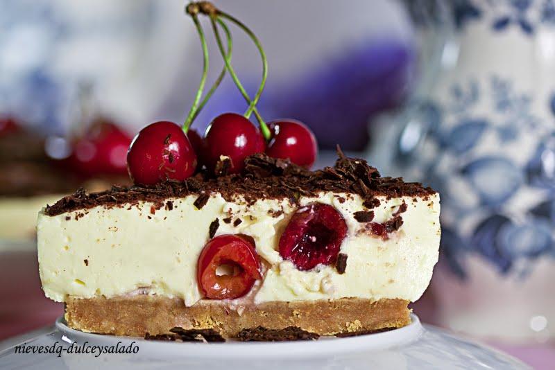
[[259,199],[283,198],[296,203],[302,195],[317,196],[321,191],[358,194],[364,198],[367,208],[379,204],[375,199],[377,195],[391,199],[435,193],[432,188],[419,183],[403,182],[400,177],[381,177],[378,170],[369,166],[364,159],[347,158],[341,151],[334,167],[316,171],[291,164],[287,159],[256,154],[245,160],[245,169],[241,174],[208,177],[205,173],[198,173],[184,182],[169,180],[154,186],[112,186],[110,191],[101,193],[88,194],[79,189],[73,195],[47,206],[45,213],[59,215],[94,206],[110,208],[142,201],[154,202],[157,209],[160,209],[166,205],[168,198],[191,194],[198,194],[194,205],[201,209],[208,201],[210,193],[220,193],[228,202],[241,195],[249,203]]

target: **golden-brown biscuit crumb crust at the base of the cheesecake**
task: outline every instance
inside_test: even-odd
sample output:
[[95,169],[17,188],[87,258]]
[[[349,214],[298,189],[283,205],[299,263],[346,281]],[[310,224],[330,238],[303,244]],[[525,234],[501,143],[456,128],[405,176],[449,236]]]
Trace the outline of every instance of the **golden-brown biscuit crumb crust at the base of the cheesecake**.
[[368,333],[400,328],[411,322],[409,301],[343,298],[332,301],[268,302],[246,307],[241,315],[219,302],[199,301],[187,307],[181,299],[139,295],[112,299],[67,297],[65,319],[89,333],[144,337],[167,334],[176,326],[214,329],[232,338],[245,328],[296,326],[318,335]]

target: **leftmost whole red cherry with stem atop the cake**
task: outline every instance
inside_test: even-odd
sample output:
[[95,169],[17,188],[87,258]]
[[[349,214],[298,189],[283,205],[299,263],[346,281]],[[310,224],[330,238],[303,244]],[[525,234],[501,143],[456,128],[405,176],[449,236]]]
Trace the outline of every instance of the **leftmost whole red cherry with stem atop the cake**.
[[129,176],[135,184],[185,180],[196,169],[196,154],[180,126],[159,121],[144,127],[127,152]]

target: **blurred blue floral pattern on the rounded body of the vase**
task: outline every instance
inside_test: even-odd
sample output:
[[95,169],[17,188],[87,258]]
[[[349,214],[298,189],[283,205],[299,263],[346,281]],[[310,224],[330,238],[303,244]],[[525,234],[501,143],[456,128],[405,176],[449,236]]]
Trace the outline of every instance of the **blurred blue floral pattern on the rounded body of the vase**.
[[[555,130],[532,112],[531,102],[531,94],[516,91],[511,80],[491,76],[486,83],[453,85],[442,104],[423,104],[429,154],[418,158],[418,167],[442,195],[447,222],[441,246],[461,278],[468,253],[480,254],[502,274],[520,276],[540,256],[555,258]],[[527,132],[538,131],[544,139],[531,155],[511,155]],[[496,147],[506,149],[490,150]],[[540,202],[506,206],[531,195],[540,195],[534,197]],[[466,231],[456,229],[454,220]]]

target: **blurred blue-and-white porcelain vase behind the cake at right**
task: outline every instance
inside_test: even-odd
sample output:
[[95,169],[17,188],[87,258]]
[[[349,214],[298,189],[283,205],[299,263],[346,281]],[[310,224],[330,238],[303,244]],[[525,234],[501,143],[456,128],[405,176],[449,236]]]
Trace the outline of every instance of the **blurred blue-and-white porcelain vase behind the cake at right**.
[[438,53],[387,164],[441,193],[438,322],[553,340],[555,0],[407,3]]

